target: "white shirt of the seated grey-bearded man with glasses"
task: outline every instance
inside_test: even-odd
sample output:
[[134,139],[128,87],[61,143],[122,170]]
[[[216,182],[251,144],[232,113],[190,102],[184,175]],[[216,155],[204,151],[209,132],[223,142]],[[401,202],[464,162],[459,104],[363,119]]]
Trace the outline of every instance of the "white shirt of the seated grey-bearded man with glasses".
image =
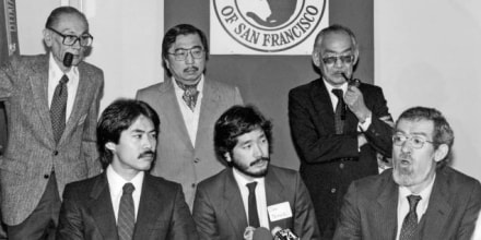
[[423,189],[420,193],[412,193],[406,187],[399,187],[399,196],[398,196],[398,232],[396,233],[396,240],[399,240],[399,235],[401,233],[402,221],[404,221],[406,216],[409,213],[409,195],[420,195],[421,200],[418,203],[418,207],[415,208],[415,213],[418,215],[418,223],[421,221],[422,216],[427,211],[427,205],[430,203],[431,192],[433,191],[434,180],[436,176],[434,176],[431,183]]

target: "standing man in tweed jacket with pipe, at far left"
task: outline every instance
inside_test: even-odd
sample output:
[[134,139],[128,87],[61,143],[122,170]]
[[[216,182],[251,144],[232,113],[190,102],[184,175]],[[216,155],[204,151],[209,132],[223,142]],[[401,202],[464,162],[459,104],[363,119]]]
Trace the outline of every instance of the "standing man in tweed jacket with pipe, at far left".
[[85,16],[60,7],[44,29],[48,53],[21,56],[0,69],[9,128],[1,209],[9,239],[55,237],[64,184],[101,172],[95,124],[104,75],[83,62],[92,40]]

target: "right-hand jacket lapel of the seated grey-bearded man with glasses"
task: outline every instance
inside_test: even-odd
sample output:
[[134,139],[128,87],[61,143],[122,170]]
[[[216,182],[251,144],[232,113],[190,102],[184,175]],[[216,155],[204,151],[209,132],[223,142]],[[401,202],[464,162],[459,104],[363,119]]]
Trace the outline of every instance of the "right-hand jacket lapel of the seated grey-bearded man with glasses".
[[451,205],[446,201],[449,199],[447,185],[449,183],[444,171],[437,171],[426,213],[421,218],[424,221],[424,229],[420,229],[423,232],[421,239],[443,239],[444,231],[439,229],[447,226],[453,212]]

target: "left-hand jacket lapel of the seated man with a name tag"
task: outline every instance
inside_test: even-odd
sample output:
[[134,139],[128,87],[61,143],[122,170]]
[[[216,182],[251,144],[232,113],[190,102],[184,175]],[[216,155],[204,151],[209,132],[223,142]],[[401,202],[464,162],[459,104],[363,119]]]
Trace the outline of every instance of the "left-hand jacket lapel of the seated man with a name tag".
[[234,229],[233,236],[243,236],[244,230],[247,227],[247,216],[242,201],[241,191],[238,190],[237,182],[232,173],[232,168],[226,169],[224,178],[225,184],[223,189],[224,200],[221,203],[222,208],[224,208],[225,215],[230,219],[228,224],[232,229]]

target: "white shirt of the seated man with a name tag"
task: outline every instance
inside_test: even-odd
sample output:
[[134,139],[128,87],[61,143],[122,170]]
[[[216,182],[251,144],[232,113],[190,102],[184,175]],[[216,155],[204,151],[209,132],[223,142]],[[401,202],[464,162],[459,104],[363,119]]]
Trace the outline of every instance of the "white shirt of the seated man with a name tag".
[[267,215],[267,199],[266,199],[266,181],[265,178],[250,178],[242,173],[235,168],[232,168],[234,173],[234,179],[237,182],[238,189],[241,190],[241,195],[243,197],[244,209],[246,212],[246,217],[249,219],[249,189],[247,188],[247,183],[257,182],[256,187],[256,201],[257,201],[257,214],[259,215],[259,224],[260,227],[269,228],[269,218]]

